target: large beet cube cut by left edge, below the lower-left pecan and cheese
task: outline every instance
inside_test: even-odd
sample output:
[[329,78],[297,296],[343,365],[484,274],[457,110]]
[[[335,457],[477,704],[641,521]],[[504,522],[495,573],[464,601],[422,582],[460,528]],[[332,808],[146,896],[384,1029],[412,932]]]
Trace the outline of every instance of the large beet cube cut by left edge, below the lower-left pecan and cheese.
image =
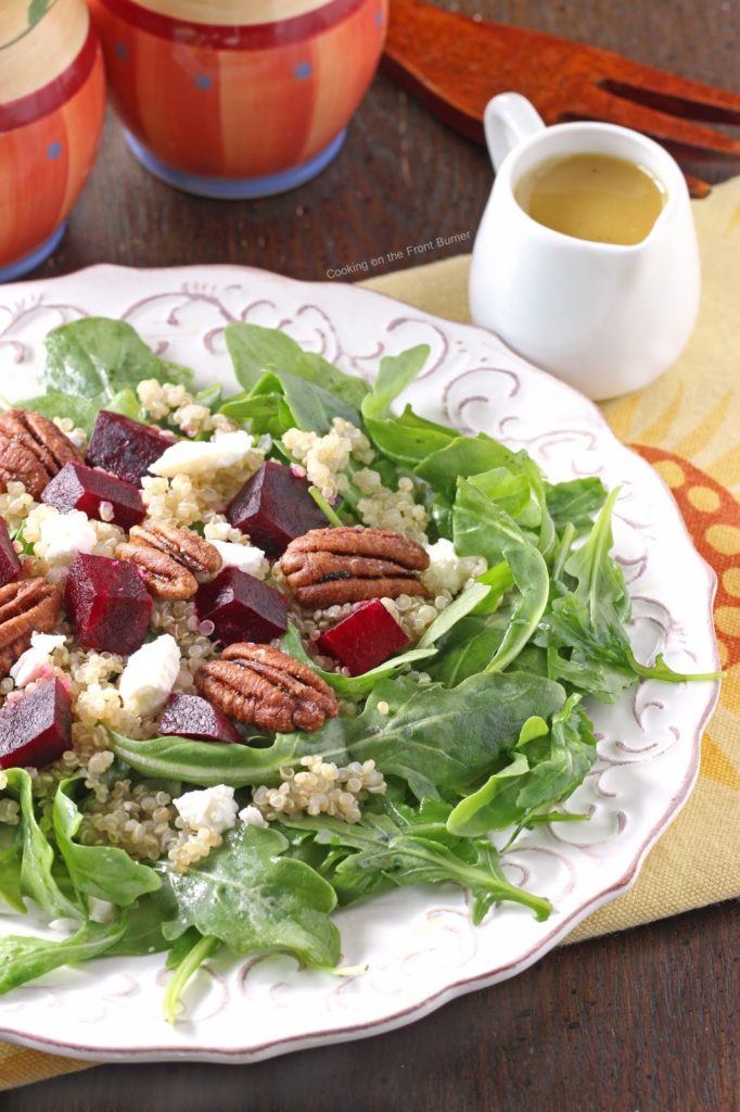
[[69,693],[46,679],[0,711],[0,768],[43,768],[72,747]]

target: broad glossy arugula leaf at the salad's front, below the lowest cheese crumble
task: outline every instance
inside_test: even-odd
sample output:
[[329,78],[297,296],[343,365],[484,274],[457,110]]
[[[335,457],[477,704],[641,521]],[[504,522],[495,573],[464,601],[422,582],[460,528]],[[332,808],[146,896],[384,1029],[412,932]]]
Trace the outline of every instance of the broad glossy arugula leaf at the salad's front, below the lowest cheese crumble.
[[163,924],[164,937],[194,926],[237,954],[281,951],[310,967],[337,965],[339,931],[328,917],[334,891],[309,865],[284,856],[287,848],[276,830],[241,826],[187,873],[168,868],[179,912]]

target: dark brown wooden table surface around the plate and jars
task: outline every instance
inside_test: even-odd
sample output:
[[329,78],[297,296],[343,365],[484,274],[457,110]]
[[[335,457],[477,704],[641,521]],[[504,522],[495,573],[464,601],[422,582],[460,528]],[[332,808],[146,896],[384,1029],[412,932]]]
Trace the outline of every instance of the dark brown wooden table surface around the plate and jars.
[[[446,7],[739,85],[738,0]],[[703,172],[718,180],[739,169]],[[38,274],[228,261],[324,279],[329,269],[474,231],[489,187],[483,152],[382,77],[323,176],[256,202],[200,200],[153,180],[110,119],[63,244]],[[732,1112],[739,929],[738,905],[724,904],[558,950],[390,1034],[253,1066],[101,1066],[7,1093],[0,1112]]]

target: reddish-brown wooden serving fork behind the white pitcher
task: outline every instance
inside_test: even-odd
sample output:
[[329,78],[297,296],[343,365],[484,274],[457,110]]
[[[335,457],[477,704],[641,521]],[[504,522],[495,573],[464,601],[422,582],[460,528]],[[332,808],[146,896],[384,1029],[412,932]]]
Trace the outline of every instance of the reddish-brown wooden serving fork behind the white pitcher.
[[[483,142],[497,92],[523,93],[546,123],[604,120],[643,131],[680,159],[740,159],[740,140],[691,122],[740,125],[740,95],[540,31],[391,0],[383,71],[446,123]],[[687,175],[694,197],[710,186]]]

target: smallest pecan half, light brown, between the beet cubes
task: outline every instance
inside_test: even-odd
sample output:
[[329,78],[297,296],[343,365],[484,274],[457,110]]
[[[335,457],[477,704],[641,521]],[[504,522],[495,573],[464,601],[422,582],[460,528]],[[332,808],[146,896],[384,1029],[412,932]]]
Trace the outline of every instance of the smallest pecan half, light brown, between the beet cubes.
[[176,525],[134,525],[129,540],[116,554],[141,569],[152,595],[159,598],[192,598],[198,590],[196,575],[211,576],[221,567],[221,556],[213,545],[192,529]]

